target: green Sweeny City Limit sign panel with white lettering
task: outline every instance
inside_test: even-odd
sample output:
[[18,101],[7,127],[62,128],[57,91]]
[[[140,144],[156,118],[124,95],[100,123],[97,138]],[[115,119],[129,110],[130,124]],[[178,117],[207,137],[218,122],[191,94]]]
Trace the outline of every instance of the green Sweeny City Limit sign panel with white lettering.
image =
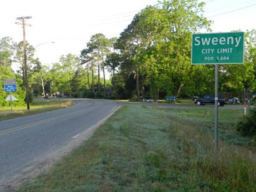
[[192,64],[242,64],[244,32],[192,34]]

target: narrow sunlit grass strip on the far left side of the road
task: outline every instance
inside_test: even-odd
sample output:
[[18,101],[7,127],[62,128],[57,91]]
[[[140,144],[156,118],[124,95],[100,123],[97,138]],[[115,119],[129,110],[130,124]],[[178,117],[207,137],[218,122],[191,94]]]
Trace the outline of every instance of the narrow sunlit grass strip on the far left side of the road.
[[71,101],[37,100],[31,103],[31,110],[27,110],[26,107],[14,107],[13,110],[10,110],[9,107],[4,107],[0,108],[0,121],[66,108],[73,104]]

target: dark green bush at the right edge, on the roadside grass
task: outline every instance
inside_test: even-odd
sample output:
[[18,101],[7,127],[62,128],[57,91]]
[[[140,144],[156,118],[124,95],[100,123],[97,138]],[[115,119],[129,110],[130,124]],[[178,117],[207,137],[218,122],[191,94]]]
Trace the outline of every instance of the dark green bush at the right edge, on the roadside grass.
[[237,131],[242,136],[254,136],[256,135],[256,108],[251,107],[249,114],[246,115],[238,124]]

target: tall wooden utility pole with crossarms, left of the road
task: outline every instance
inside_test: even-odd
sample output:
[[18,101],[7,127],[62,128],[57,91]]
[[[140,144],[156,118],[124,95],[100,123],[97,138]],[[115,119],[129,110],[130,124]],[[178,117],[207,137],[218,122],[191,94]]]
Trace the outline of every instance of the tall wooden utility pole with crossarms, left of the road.
[[24,84],[26,87],[26,103],[27,103],[27,110],[30,109],[30,105],[29,105],[29,83],[28,83],[28,77],[27,77],[27,44],[26,44],[26,32],[25,32],[25,27],[26,26],[31,26],[29,24],[26,24],[27,19],[31,19],[31,16],[27,16],[27,17],[17,17],[17,20],[21,21],[21,22],[16,22],[16,24],[20,24],[22,25],[22,29],[23,29],[23,51],[24,51],[24,59],[23,59],[23,67],[24,67]]

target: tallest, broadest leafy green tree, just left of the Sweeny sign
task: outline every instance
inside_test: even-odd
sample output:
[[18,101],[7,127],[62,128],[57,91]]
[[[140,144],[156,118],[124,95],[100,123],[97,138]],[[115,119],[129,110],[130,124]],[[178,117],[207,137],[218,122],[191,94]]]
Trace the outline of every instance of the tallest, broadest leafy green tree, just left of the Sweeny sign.
[[169,74],[175,94],[187,84],[185,77],[191,68],[190,34],[210,26],[202,16],[203,6],[204,3],[198,4],[196,0],[162,1],[136,14],[121,33],[117,47],[123,58],[132,61],[131,66],[125,62],[123,65],[135,71],[137,98],[139,74],[145,75],[151,92],[159,90],[157,86],[160,84],[156,80],[166,80],[162,74]]

